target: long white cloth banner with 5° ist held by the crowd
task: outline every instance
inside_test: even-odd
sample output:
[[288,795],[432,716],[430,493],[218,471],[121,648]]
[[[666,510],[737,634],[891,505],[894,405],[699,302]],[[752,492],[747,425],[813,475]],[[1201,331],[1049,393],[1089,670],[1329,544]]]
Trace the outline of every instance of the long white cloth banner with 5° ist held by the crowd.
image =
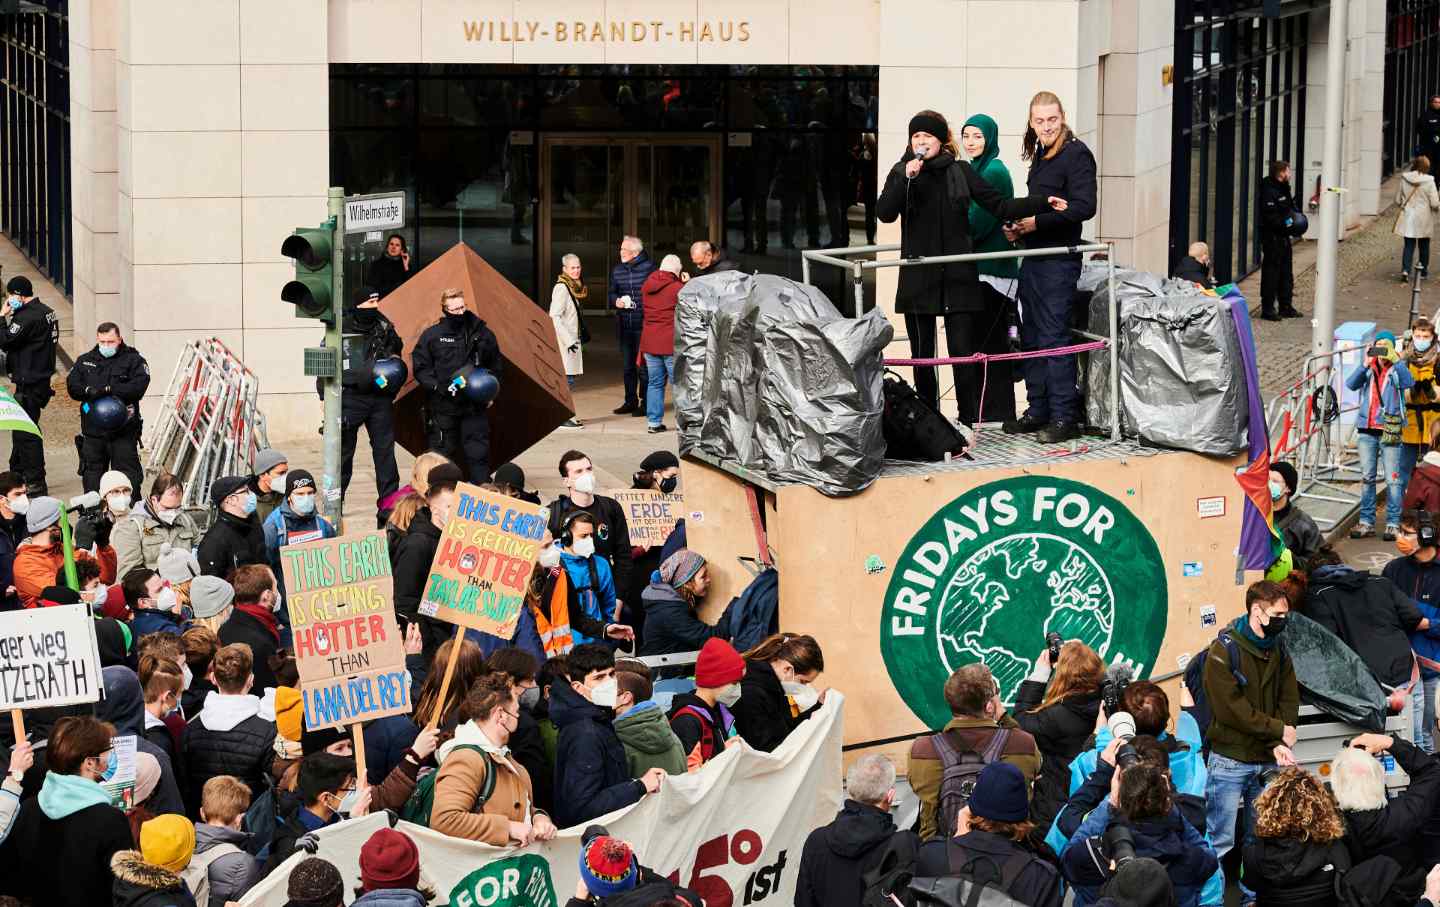
[[[795,901],[805,836],[835,818],[841,800],[844,697],[831,690],[816,711],[773,753],[726,750],[700,772],[667,777],[660,793],[596,822],[628,841],[639,861],[691,888],[706,907]],[[360,848],[386,816],[321,829],[320,851],[348,887],[360,884]],[[589,822],[586,825],[590,825]],[[400,822],[420,848],[422,881],[432,904],[452,907],[559,907],[579,881],[580,834],[528,848],[497,848]],[[240,900],[242,907],[284,907],[297,852]]]

